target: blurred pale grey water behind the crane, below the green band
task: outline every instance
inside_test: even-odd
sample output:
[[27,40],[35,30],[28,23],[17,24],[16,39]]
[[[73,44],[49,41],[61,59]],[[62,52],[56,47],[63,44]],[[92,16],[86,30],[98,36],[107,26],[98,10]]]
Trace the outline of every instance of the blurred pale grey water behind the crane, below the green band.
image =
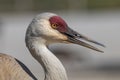
[[[74,30],[106,45],[106,48],[99,47],[105,51],[104,53],[98,53],[78,45],[60,45],[76,52],[71,53],[72,56],[75,56],[72,58],[79,59],[81,55],[85,58],[83,59],[84,62],[62,60],[70,80],[118,80],[120,78],[117,74],[120,73],[120,12],[67,12],[58,14]],[[41,66],[31,57],[24,41],[26,28],[35,15],[32,13],[0,14],[0,21],[2,21],[2,25],[0,25],[0,52],[18,58],[37,77],[43,78],[44,74]],[[112,67],[109,68],[109,66]],[[104,72],[104,67],[109,68],[108,72]],[[119,70],[117,73],[114,71],[116,67]],[[113,73],[109,73],[111,69],[113,69]]]

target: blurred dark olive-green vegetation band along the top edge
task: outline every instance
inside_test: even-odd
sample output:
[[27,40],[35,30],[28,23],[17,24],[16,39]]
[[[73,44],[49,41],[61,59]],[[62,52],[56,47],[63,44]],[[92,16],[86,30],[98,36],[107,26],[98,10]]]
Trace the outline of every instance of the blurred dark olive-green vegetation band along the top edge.
[[0,0],[1,12],[108,8],[120,8],[120,0]]

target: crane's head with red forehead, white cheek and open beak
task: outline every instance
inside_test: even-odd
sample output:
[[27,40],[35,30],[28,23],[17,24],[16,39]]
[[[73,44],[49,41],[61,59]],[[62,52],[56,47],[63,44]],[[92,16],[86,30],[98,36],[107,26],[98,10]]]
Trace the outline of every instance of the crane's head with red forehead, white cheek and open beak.
[[[36,16],[31,24],[31,35],[42,37],[47,43],[74,43],[92,50],[103,52],[98,48],[88,44],[86,41],[105,47],[103,44],[94,41],[84,35],[72,30],[67,23],[54,13],[42,13]],[[28,29],[29,30],[29,29]]]

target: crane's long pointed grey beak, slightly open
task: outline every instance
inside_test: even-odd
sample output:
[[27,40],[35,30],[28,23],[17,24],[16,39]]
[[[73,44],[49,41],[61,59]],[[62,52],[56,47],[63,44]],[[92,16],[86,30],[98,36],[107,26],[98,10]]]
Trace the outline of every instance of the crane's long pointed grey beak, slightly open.
[[70,42],[70,43],[78,44],[78,45],[81,45],[81,46],[84,46],[84,47],[90,48],[92,50],[95,50],[95,51],[103,53],[102,50],[100,50],[100,49],[98,49],[98,48],[96,48],[96,47],[86,43],[86,41],[88,41],[88,42],[97,44],[99,46],[105,47],[103,44],[101,44],[101,43],[99,43],[97,41],[94,41],[94,40],[92,40],[92,39],[90,39],[88,37],[85,37],[82,34],[79,34],[78,32],[73,31],[70,28],[68,29],[68,31],[64,32],[64,34],[68,37],[67,41]]

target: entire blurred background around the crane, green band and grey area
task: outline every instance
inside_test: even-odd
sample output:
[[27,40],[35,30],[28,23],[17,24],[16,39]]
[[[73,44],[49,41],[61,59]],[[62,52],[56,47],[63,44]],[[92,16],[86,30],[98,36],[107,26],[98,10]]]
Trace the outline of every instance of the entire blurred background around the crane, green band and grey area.
[[0,0],[0,52],[21,60],[42,80],[42,67],[24,41],[30,21],[41,12],[60,15],[72,29],[107,46],[96,46],[104,50],[99,53],[78,45],[51,45],[69,80],[120,79],[120,0]]

